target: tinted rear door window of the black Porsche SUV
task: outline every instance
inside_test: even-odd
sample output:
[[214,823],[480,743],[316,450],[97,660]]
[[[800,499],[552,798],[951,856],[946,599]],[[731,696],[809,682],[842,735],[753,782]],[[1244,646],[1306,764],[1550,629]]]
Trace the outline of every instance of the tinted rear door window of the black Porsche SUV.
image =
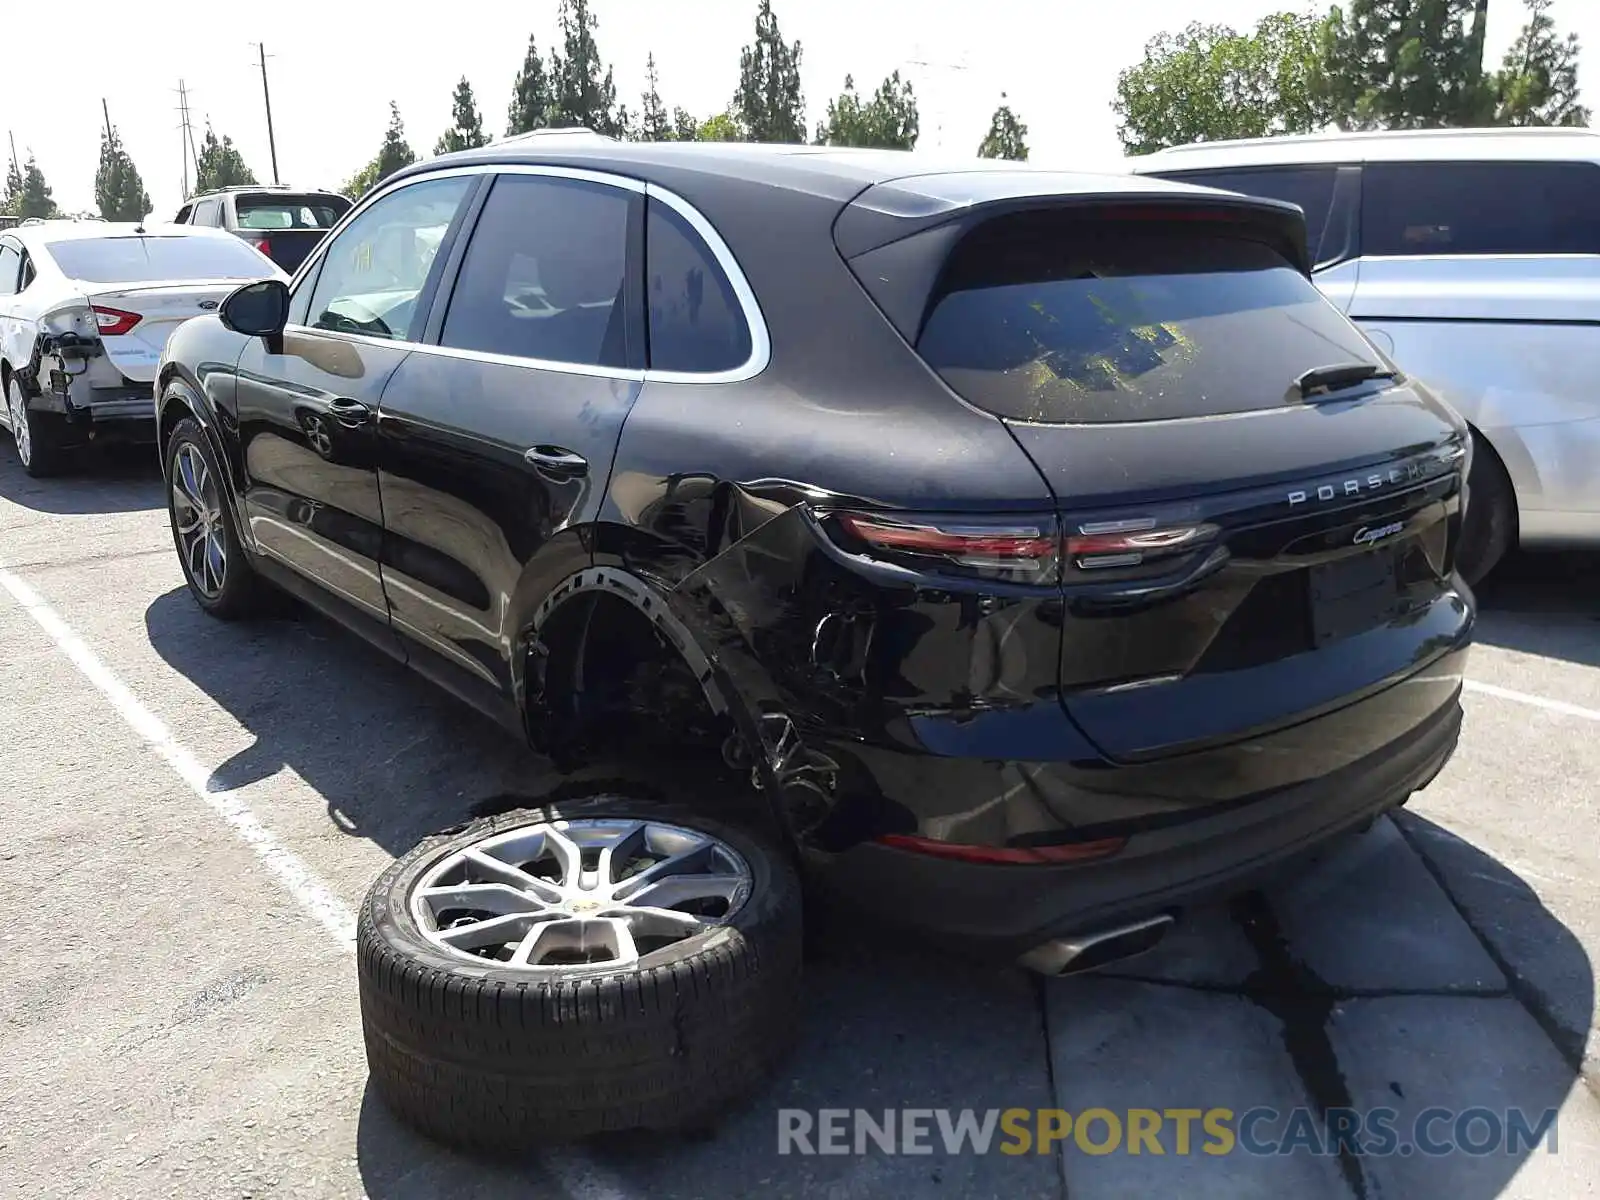
[[627,365],[632,192],[536,174],[494,181],[440,344],[574,366]]

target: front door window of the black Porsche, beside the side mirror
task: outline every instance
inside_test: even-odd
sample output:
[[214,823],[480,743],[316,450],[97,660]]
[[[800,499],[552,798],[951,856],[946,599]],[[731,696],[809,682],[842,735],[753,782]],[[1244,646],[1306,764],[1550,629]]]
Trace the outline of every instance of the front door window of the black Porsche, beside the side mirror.
[[[472,182],[424,179],[371,205],[328,245],[309,309],[296,298],[290,312],[302,312],[315,330],[408,339],[418,296]],[[310,282],[302,280],[302,290]]]

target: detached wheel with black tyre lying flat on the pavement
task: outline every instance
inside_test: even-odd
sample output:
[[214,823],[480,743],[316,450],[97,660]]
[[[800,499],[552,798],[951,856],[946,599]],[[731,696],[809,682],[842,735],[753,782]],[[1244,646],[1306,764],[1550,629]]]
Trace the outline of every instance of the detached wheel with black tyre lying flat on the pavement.
[[362,906],[371,1082],[496,1154],[704,1130],[787,1050],[800,957],[794,869],[741,829],[618,795],[485,818]]

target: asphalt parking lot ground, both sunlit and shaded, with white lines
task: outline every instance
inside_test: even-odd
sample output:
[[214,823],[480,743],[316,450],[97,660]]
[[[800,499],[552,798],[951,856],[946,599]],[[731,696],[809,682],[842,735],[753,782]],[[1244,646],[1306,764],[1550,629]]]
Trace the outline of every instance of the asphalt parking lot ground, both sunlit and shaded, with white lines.
[[[1314,867],[1098,976],[824,952],[798,1053],[715,1136],[512,1170],[368,1094],[349,914],[546,768],[315,618],[202,616],[147,456],[35,482],[6,448],[0,1192],[1597,1195],[1600,557],[1515,560],[1483,610],[1456,758]],[[778,1154],[779,1109],[1258,1106],[1560,1115],[1554,1154]]]

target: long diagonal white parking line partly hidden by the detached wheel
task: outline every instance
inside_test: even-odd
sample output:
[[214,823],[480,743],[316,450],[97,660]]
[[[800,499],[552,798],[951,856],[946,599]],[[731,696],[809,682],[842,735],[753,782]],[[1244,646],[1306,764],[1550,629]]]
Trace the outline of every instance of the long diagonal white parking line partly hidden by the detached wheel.
[[[173,771],[189,784],[189,789],[221,816],[238,840],[294,901],[333,934],[344,950],[355,949],[355,914],[339,896],[317,877],[306,861],[278,842],[251,811],[245,798],[232,789],[213,789],[211,773],[166,728],[160,717],[150,712],[128,686],[112,674],[99,656],[85,645],[72,627],[56,616],[56,611],[40,598],[38,592],[0,563],[0,589],[45,630],[51,642],[66,654],[83,677],[110,702],[128,726],[155,750]],[[629,1200],[630,1194],[613,1181],[611,1174],[579,1150],[557,1150],[544,1155],[546,1170],[557,1178],[571,1200]]]

